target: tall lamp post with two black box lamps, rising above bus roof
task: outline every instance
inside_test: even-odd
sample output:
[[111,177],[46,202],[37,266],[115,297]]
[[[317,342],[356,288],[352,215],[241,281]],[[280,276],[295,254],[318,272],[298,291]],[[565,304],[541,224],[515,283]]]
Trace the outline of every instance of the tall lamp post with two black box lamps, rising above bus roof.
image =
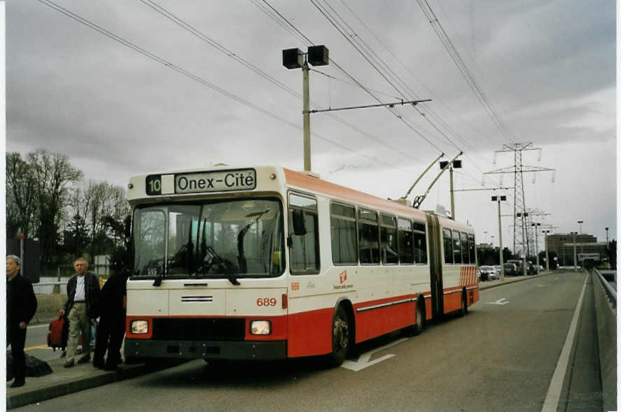
[[304,170],[311,171],[309,67],[328,64],[328,48],[325,45],[309,46],[308,52],[298,48],[282,51],[282,64],[287,69],[302,69],[302,122],[304,123]]

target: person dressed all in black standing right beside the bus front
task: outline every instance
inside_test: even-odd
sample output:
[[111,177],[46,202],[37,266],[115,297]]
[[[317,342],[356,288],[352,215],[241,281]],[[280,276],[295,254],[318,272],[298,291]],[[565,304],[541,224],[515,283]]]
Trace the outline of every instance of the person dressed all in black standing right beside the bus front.
[[[106,371],[116,370],[119,362],[119,350],[125,334],[125,285],[127,274],[115,273],[104,283],[102,294],[97,304],[99,326],[95,339],[95,355],[92,366]],[[108,357],[104,365],[104,354]]]

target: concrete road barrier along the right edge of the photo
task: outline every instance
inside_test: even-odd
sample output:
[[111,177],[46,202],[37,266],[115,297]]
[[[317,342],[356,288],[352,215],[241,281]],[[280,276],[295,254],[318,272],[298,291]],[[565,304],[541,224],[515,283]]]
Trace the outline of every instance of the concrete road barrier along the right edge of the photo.
[[617,410],[617,293],[597,269],[592,271],[603,410]]

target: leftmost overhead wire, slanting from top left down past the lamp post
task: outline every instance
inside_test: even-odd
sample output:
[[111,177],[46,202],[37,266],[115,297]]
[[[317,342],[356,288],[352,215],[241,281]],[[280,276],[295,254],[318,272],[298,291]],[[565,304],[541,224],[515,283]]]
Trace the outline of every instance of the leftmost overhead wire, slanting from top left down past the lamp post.
[[[165,59],[162,59],[162,57],[159,57],[158,55],[155,55],[151,52],[149,52],[148,50],[145,50],[144,48],[139,47],[138,45],[135,45],[134,43],[125,40],[125,38],[122,38],[120,36],[117,36],[116,34],[113,34],[111,31],[108,31],[106,29],[104,29],[103,27],[98,26],[97,24],[90,22],[89,20],[85,19],[84,17],[81,17],[79,15],[76,15],[75,13],[71,12],[70,10],[67,10],[67,8],[63,8],[62,6],[59,6],[58,4],[54,3],[53,1],[50,0],[39,0],[40,3],[43,3],[44,5],[52,8],[53,10],[56,10],[59,13],[62,13],[64,15],[66,15],[67,17],[71,17],[72,19],[76,20],[77,22],[80,22],[81,24],[84,24],[87,27],[90,27],[91,29],[94,29],[95,31],[98,31],[101,34],[104,34],[104,36],[109,37],[111,39],[113,39],[114,41],[121,43],[123,45],[125,45],[127,48],[130,48],[132,50],[134,50],[135,52],[139,52],[141,55],[144,55],[145,57],[148,57],[149,59],[158,62],[159,64],[162,64],[163,66],[168,67],[169,69],[172,69],[174,71],[176,71],[177,73],[182,74],[183,76],[186,76],[192,80],[195,80],[197,83],[201,83],[204,86],[207,86],[209,88],[211,88],[212,90],[215,90],[218,93],[221,93],[223,95],[225,95],[226,97],[229,97],[230,99],[233,99],[235,101],[238,101],[241,104],[244,104],[245,106],[249,106],[250,108],[253,108],[256,111],[259,111],[260,113],[263,113],[264,115],[269,116],[270,118],[273,118],[274,120],[278,120],[279,122],[282,122],[288,126],[291,127],[295,127],[295,129],[299,129],[302,130],[302,127],[300,127],[300,125],[297,125],[293,122],[290,122],[289,120],[286,120],[285,118],[282,118],[281,116],[272,113],[270,111],[267,111],[267,109],[262,108],[260,106],[257,106],[256,104],[251,103],[250,101],[247,101],[246,99],[242,99],[242,97],[238,97],[235,94],[232,94],[230,92],[228,92],[227,90],[224,90],[222,87],[218,87],[216,85],[214,85],[213,83],[209,83],[207,80],[204,80],[203,78],[200,78],[199,76],[196,76],[193,73],[190,73],[189,71],[186,71],[185,69],[182,69],[179,66],[176,66],[176,64],[173,64],[171,62],[168,62]],[[377,162],[377,163],[381,163],[384,164],[384,166],[388,166],[391,169],[397,169],[400,170],[404,173],[407,173],[408,175],[410,175],[410,171],[405,171],[403,169],[400,169],[396,166],[394,166],[393,164],[388,164],[386,162],[382,162],[381,160],[375,158],[375,157],[369,157],[367,155],[363,155],[361,152],[357,152],[356,150],[353,150],[351,148],[348,148],[345,145],[342,145],[341,143],[338,143],[336,141],[333,141],[330,138],[326,138],[325,136],[321,136],[319,134],[312,134],[313,136],[315,136],[316,138],[319,138],[323,141],[326,141],[328,143],[331,143],[333,145],[338,146],[339,148],[342,148],[343,150],[347,150],[348,152],[352,152],[356,155],[365,157],[366,159],[372,160],[373,162]]]

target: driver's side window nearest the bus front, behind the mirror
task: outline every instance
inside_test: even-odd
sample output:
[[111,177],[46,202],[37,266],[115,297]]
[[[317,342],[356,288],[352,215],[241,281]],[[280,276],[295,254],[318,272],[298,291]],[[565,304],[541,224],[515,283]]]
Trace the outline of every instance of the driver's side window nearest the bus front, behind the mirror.
[[[293,213],[301,214],[304,221],[303,229],[295,234],[293,230]],[[291,274],[319,274],[319,216],[317,201],[298,194],[289,194],[289,237],[291,249],[289,253]]]

